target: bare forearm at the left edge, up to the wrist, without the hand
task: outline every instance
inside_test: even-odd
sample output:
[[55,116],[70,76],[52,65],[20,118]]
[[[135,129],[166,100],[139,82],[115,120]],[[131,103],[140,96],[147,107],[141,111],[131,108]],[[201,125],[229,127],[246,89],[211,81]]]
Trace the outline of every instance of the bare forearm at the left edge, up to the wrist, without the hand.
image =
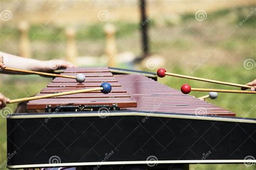
[[3,62],[6,67],[25,70],[43,70],[44,61],[22,58],[20,56],[0,52],[3,56]]

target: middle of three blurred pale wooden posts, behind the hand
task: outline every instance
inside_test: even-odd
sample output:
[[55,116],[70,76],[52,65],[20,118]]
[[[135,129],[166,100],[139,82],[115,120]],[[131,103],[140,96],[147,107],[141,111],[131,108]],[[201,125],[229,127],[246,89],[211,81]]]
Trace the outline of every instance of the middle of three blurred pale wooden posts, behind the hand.
[[76,46],[76,30],[72,27],[66,28],[66,61],[76,63],[77,61],[77,46]]

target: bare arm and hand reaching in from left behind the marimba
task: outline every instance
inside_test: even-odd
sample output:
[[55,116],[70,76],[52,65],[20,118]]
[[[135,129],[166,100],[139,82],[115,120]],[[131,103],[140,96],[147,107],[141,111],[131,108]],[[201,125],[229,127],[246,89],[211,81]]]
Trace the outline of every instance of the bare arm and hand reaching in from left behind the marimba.
[[10,68],[33,70],[38,72],[52,72],[52,70],[55,70],[58,68],[76,67],[72,63],[66,62],[63,60],[41,61],[41,60],[23,58],[20,56],[16,56],[16,55],[4,53],[4,52],[0,52],[0,56],[1,55],[2,55],[2,59],[0,57],[0,62],[3,62],[6,67],[10,67]]

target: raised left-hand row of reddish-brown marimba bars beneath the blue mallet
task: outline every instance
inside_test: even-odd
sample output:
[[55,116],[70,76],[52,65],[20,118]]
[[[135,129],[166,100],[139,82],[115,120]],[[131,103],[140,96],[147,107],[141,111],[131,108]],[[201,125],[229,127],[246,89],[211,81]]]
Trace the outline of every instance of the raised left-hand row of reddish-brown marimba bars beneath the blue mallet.
[[117,104],[119,108],[136,107],[137,102],[126,93],[117,79],[113,77],[108,68],[69,68],[64,71],[65,75],[73,76],[77,73],[85,75],[85,82],[77,83],[70,79],[56,78],[53,79],[48,86],[36,95],[54,95],[66,91],[82,90],[99,87],[102,82],[109,82],[112,90],[109,94],[102,94],[100,91],[91,91],[88,93],[71,94],[64,96],[56,96],[52,98],[43,98],[30,101],[27,105],[28,109],[45,109],[48,105],[56,107],[57,105],[113,105]]

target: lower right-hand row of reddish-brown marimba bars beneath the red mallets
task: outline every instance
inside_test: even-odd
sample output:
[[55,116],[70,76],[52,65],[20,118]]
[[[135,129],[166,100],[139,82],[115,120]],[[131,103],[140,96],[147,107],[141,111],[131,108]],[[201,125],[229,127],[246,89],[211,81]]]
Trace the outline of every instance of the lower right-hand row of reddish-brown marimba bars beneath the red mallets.
[[[180,91],[160,84],[142,75],[114,75],[118,82],[137,101],[137,110],[177,114],[235,116],[231,111],[219,108],[199,98],[184,95]],[[132,85],[131,85],[132,84]]]

